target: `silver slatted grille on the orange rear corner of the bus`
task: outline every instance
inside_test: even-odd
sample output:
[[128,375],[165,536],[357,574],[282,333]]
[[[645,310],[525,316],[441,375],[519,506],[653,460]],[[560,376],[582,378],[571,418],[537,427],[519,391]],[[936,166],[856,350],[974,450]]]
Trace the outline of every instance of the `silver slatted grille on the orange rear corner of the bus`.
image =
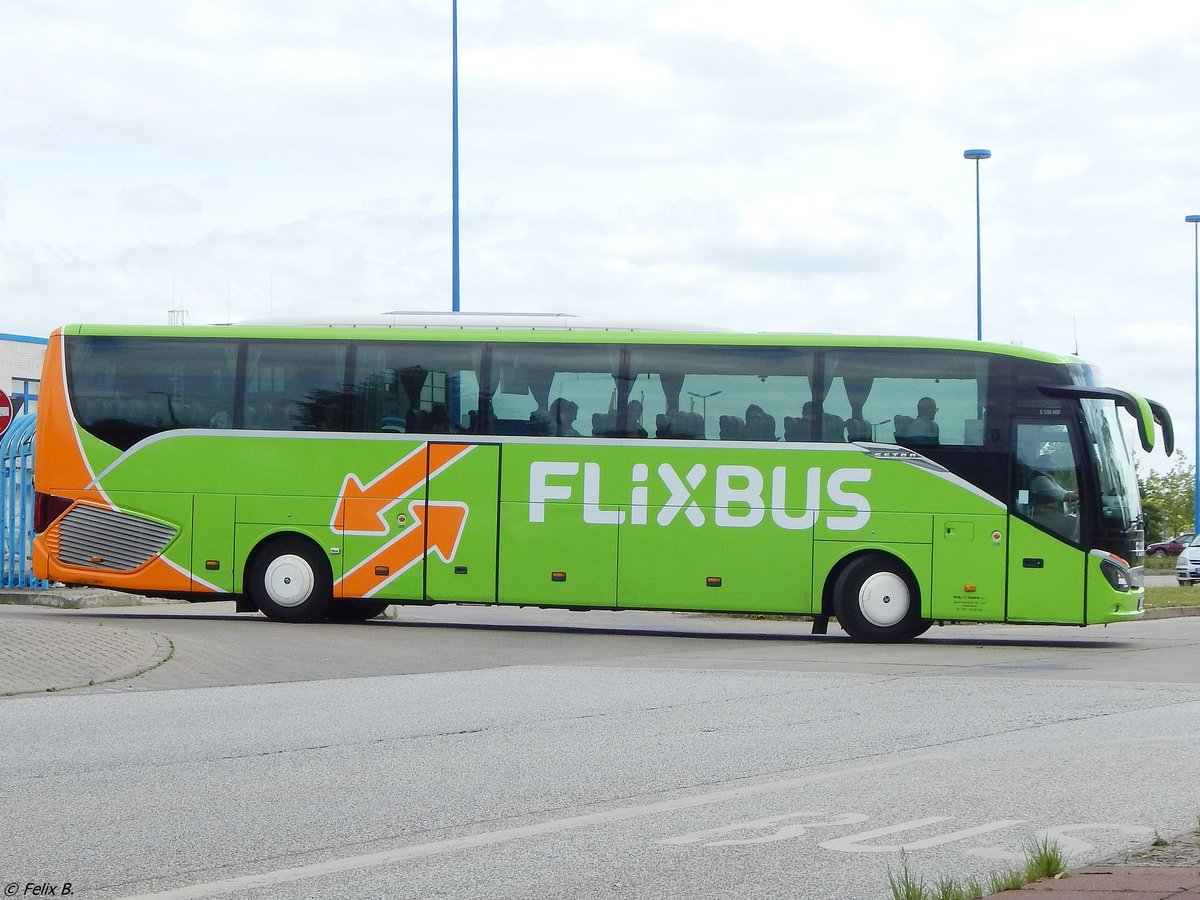
[[132,571],[158,556],[176,530],[118,510],[76,506],[59,523],[59,562]]

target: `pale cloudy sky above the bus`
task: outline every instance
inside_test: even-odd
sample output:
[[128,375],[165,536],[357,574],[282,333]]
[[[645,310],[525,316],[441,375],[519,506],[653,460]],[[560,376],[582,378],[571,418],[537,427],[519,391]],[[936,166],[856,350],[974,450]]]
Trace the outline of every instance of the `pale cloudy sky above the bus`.
[[[1195,442],[1195,0],[460,0],[468,312],[1078,352]],[[450,308],[450,0],[0,0],[0,332]],[[1165,469],[1162,450],[1144,464]]]

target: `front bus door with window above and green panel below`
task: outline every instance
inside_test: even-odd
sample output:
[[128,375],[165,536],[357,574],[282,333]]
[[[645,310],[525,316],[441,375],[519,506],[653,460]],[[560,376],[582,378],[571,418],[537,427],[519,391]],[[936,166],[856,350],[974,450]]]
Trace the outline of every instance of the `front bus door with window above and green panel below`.
[[1078,546],[1078,442],[1064,420],[1016,421],[1009,516],[1009,622],[1081,624],[1087,554]]

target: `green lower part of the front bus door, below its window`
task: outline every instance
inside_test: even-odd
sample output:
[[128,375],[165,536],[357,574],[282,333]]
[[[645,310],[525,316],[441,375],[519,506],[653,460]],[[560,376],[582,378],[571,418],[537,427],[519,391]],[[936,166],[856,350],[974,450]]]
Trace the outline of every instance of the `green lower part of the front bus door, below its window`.
[[1084,624],[1087,554],[1009,517],[1008,622]]

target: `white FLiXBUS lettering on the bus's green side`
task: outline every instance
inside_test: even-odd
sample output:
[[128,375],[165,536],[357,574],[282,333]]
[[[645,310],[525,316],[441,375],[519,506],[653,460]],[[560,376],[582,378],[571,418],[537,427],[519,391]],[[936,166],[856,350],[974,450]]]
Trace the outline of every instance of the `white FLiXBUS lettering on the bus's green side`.
[[[824,478],[821,468],[814,466],[805,472],[802,485],[796,484],[797,474],[786,466],[776,466],[770,470],[768,484],[763,472],[754,466],[716,466],[709,473],[707,466],[696,463],[680,474],[665,462],[654,470],[656,482],[653,486],[655,492],[666,488],[667,499],[652,515],[650,467],[646,463],[635,463],[630,472],[628,509],[607,509],[600,503],[604,478],[600,463],[533,462],[529,464],[529,521],[546,521],[547,502],[574,500],[582,506],[583,521],[588,524],[624,524],[628,521],[632,526],[644,526],[653,521],[668,526],[683,516],[691,526],[701,528],[710,515],[719,528],[754,528],[769,511],[770,520],[780,528],[804,530],[817,523],[822,497],[839,508],[838,514],[824,514],[830,529],[853,532],[870,521],[870,500],[851,487],[870,481],[870,469],[840,468]],[[797,514],[794,510],[804,511]]]

